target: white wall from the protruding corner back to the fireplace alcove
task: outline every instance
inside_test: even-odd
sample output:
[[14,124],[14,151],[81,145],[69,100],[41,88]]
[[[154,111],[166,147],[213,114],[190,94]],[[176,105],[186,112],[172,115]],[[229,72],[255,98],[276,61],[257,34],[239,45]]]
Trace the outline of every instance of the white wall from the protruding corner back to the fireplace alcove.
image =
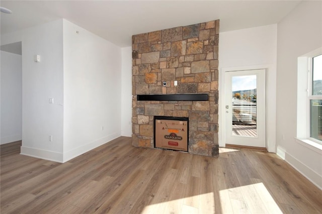
[[66,20],[63,43],[65,162],[121,136],[122,55]]

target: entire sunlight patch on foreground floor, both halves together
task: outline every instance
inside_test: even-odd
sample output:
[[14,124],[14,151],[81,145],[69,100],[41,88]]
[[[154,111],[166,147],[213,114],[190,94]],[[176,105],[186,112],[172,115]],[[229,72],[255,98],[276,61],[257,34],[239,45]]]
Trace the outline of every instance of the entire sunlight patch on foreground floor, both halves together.
[[[218,195],[221,213],[283,213],[263,183],[223,189]],[[214,193],[154,203],[141,213],[215,213]]]

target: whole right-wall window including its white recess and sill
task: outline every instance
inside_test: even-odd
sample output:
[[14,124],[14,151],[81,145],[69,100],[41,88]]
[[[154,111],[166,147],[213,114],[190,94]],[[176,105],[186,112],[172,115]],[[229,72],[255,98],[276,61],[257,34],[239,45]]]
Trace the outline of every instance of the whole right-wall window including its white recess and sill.
[[322,48],[297,63],[297,142],[322,150]]

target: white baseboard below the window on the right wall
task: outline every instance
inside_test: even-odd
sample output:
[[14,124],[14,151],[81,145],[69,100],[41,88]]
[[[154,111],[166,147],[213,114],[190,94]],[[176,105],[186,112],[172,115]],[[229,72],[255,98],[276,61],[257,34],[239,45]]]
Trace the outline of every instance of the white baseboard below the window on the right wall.
[[311,168],[297,160],[292,155],[285,152],[282,148],[277,147],[277,155],[285,160],[289,165],[301,173],[305,178],[311,181],[317,188],[322,190],[322,176],[317,174]]

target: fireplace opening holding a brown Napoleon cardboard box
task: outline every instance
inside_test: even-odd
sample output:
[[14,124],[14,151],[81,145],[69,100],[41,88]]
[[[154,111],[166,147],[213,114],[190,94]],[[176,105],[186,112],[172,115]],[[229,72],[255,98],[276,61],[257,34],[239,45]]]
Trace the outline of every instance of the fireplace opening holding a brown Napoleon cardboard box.
[[154,116],[154,148],[188,152],[189,118]]

